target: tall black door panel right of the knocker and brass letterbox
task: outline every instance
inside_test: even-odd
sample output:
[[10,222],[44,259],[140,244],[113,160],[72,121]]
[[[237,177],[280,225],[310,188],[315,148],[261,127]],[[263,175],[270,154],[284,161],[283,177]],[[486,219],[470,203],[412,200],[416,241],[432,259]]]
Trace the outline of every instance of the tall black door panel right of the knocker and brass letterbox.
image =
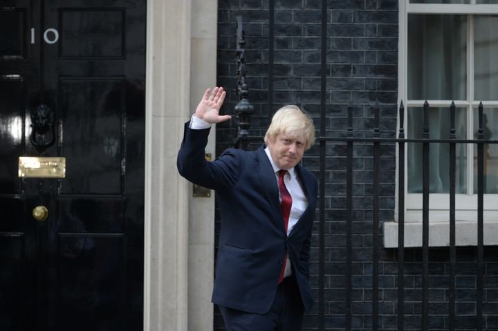
[[60,79],[60,146],[68,169],[62,194],[122,195],[123,96],[120,78]]

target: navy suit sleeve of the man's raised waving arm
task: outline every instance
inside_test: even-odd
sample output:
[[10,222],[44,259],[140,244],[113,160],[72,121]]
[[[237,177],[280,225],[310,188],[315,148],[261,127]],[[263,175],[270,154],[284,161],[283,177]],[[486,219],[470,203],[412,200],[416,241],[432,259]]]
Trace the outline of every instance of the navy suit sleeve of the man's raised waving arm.
[[210,129],[193,130],[185,124],[185,133],[176,167],[181,176],[196,185],[214,190],[229,190],[237,184],[239,159],[237,150],[228,149],[213,162],[205,160],[205,146]]

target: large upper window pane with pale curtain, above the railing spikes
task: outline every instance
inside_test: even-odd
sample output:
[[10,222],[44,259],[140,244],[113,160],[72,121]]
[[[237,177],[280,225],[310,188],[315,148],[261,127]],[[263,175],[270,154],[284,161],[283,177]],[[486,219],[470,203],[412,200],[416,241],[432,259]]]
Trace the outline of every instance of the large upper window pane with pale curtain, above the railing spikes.
[[467,17],[409,15],[408,99],[465,100]]

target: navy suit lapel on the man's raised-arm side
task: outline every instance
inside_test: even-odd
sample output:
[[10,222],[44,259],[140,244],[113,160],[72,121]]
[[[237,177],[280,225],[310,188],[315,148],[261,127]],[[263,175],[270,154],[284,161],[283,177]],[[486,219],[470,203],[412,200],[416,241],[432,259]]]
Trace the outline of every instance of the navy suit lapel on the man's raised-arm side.
[[266,155],[263,147],[256,151],[256,155],[257,158],[255,166],[259,180],[261,180],[261,186],[263,187],[266,193],[266,198],[268,198],[268,202],[270,202],[270,206],[273,209],[275,220],[277,220],[279,226],[282,227],[282,230],[285,231],[282,209],[280,209],[278,184],[275,178],[275,173],[273,172],[273,167],[271,166],[270,160],[268,160],[268,155]]

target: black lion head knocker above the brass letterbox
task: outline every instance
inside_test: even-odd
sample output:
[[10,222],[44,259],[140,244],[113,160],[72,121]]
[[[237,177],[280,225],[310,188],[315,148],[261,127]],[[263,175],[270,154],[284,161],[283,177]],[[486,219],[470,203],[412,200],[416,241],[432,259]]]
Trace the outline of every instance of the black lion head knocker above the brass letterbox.
[[39,153],[43,153],[55,142],[54,113],[45,104],[31,112],[30,142]]

